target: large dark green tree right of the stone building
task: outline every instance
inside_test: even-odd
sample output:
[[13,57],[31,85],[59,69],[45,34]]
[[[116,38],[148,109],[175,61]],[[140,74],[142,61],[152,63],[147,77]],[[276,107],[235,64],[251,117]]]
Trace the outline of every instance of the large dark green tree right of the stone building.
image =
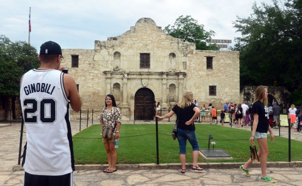
[[233,22],[241,37],[240,84],[284,86],[302,90],[302,0],[253,4],[253,14]]

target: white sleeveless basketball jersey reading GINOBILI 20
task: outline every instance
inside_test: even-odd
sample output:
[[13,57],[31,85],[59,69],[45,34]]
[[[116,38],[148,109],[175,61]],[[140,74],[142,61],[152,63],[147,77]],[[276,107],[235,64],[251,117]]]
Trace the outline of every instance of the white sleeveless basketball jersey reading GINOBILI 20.
[[63,74],[54,69],[32,69],[21,80],[20,101],[27,140],[23,168],[30,174],[57,176],[75,170],[70,100]]

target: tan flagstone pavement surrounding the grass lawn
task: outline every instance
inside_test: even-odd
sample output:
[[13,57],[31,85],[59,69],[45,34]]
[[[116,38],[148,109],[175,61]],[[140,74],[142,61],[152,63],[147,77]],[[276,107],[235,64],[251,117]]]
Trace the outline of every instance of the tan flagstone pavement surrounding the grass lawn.
[[[166,121],[160,121],[164,123]],[[94,124],[99,121],[95,120]],[[133,124],[133,121],[123,121],[123,124]],[[154,124],[154,121],[136,123]],[[199,123],[198,123],[199,124]],[[89,126],[91,123],[89,124]],[[0,186],[21,186],[24,170],[18,164],[20,122],[0,123]],[[87,126],[82,120],[81,129]],[[230,127],[226,123],[225,127]],[[237,128],[236,125],[233,126]],[[250,130],[249,127],[240,129]],[[26,129],[24,128],[24,132]],[[72,121],[72,132],[79,131],[79,121]],[[275,135],[279,135],[274,129]],[[281,136],[288,137],[288,128],[282,127]],[[301,140],[302,133],[292,130],[291,139]],[[23,135],[22,146],[26,141]],[[192,170],[187,165],[187,172],[180,172],[180,164],[135,164],[117,165],[117,171],[104,173],[106,165],[77,165],[74,172],[74,186],[302,186],[302,161],[268,162],[267,173],[277,180],[277,183],[267,183],[260,180],[260,164],[255,163],[250,168],[251,177],[239,169],[243,162],[238,163],[200,163],[204,171]],[[15,169],[15,170],[13,170]]]

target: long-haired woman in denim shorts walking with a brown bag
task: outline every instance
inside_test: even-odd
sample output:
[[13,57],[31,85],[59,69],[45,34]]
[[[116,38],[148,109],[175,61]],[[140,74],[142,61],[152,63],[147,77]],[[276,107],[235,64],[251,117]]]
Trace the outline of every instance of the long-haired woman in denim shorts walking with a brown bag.
[[[258,157],[261,158],[260,160],[260,166],[261,166],[261,180],[266,182],[275,182],[274,179],[270,178],[268,175],[266,175],[266,161],[268,156],[268,146],[267,146],[267,131],[270,134],[270,141],[274,141],[275,137],[273,135],[272,129],[269,127],[268,124],[268,114],[269,109],[267,108],[267,87],[266,86],[258,86],[256,89],[256,95],[254,98],[253,103],[253,115],[254,115],[254,122],[253,122],[253,130],[252,135],[249,138],[250,143],[254,143],[254,139],[257,139],[258,145],[259,145],[259,151],[258,151]],[[242,169],[245,174],[250,176],[248,168],[251,166],[252,160],[249,158],[249,160],[242,166],[240,166],[240,169]]]

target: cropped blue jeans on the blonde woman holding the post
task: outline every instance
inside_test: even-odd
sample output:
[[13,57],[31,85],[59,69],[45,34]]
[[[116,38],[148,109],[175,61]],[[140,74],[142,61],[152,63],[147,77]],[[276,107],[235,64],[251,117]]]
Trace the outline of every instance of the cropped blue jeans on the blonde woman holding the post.
[[187,139],[190,142],[193,151],[199,151],[199,145],[195,131],[186,131],[177,128],[177,139],[179,144],[179,154],[186,154]]

